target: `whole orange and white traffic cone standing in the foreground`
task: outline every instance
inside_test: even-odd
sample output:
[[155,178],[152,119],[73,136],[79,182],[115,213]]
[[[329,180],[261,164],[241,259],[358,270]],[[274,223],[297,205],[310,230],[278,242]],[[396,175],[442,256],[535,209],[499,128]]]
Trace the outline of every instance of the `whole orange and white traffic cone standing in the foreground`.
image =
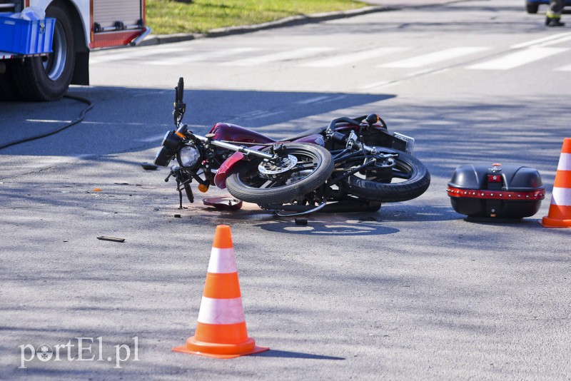
[[218,225],[194,336],[173,351],[218,358],[263,352],[248,337],[230,226]]

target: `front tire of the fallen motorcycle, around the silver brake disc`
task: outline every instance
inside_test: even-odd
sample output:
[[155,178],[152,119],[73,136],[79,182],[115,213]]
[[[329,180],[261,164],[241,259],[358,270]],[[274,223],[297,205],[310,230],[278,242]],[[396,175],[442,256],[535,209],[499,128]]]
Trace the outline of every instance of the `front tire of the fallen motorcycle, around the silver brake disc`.
[[[247,203],[289,203],[314,191],[333,173],[333,160],[325,148],[308,143],[285,143],[284,147],[288,156],[298,160],[293,168],[280,172],[276,167],[276,174],[264,176],[258,169],[263,160],[255,158],[228,176],[228,192]],[[263,149],[269,150],[269,147]],[[268,183],[270,179],[271,183]]]

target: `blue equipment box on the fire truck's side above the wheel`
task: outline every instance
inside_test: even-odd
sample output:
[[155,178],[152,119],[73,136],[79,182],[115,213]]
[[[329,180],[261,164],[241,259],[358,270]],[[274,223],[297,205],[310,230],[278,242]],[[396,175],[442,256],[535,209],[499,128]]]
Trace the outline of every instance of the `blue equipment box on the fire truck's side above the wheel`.
[[56,19],[13,19],[0,14],[0,51],[13,54],[51,53]]

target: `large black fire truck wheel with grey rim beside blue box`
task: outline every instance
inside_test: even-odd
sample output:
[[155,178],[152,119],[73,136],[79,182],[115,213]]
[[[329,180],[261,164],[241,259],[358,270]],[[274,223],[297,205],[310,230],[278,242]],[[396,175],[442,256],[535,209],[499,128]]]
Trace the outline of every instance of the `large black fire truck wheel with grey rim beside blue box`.
[[66,7],[59,1],[46,9],[56,19],[53,52],[30,57],[11,66],[17,91],[25,101],[55,101],[69,88],[74,74],[74,33]]

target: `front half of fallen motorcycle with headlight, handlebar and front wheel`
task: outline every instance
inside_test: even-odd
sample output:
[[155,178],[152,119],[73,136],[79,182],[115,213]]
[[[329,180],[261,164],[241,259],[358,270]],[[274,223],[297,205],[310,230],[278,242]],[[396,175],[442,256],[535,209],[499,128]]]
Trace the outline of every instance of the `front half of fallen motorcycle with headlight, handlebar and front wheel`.
[[[198,182],[198,190],[202,192],[208,191],[212,184],[222,189],[228,185],[234,197],[241,195],[240,200],[269,204],[301,198],[331,176],[330,153],[322,146],[301,142],[303,139],[268,144],[267,139],[258,141],[258,134],[238,126],[228,128],[224,138],[216,131],[206,136],[188,131],[188,126],[182,123],[186,111],[183,78],[175,90],[173,120],[177,128],[166,133],[155,164],[168,166],[176,158],[178,166],[171,167],[165,181],[171,176],[175,178],[181,208],[183,190],[188,200],[194,201],[190,186],[193,180]],[[228,138],[237,140],[240,145],[229,142]],[[248,143],[256,143],[256,147],[248,148]]]

